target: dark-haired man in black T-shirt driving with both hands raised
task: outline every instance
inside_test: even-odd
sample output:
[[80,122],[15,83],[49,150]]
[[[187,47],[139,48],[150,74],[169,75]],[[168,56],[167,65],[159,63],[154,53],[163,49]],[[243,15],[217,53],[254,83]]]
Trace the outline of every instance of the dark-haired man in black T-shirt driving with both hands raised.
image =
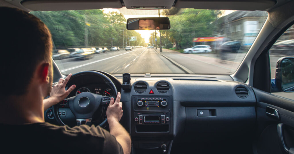
[[0,60],[1,149],[9,153],[130,153],[131,138],[119,123],[123,115],[119,92],[106,111],[110,132],[94,125],[69,128],[44,121],[44,110],[65,99],[76,86],[65,90],[70,74],[52,88],[51,34],[40,19],[8,7],[0,7],[0,13],[5,52]]

